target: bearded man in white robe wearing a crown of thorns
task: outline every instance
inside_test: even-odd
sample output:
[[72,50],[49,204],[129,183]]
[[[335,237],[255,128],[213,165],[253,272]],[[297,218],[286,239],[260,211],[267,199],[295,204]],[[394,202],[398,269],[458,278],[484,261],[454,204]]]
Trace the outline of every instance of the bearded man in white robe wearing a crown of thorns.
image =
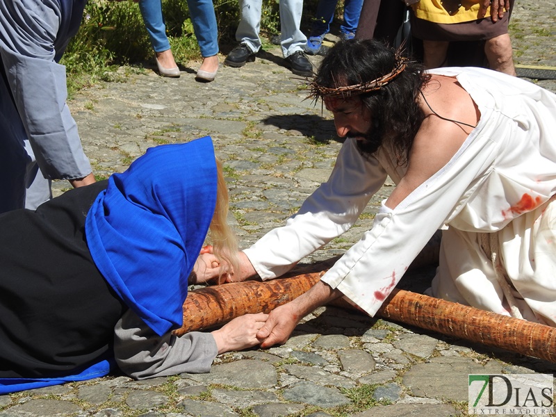
[[352,227],[387,176],[396,186],[361,240],[270,313],[261,347],[341,296],[373,316],[438,229],[430,295],[556,326],[556,95],[482,68],[425,72],[374,40],[338,42],[309,88],[345,138],[334,170],[229,280],[283,275]]

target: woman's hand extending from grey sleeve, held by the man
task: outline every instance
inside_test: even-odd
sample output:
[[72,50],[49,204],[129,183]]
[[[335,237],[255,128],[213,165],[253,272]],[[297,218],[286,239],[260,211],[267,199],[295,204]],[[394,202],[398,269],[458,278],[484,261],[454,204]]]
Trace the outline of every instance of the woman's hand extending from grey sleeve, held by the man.
[[245,314],[231,320],[224,327],[211,332],[218,347],[218,354],[231,350],[243,350],[259,345],[262,340],[256,338],[257,332],[263,327],[268,314]]

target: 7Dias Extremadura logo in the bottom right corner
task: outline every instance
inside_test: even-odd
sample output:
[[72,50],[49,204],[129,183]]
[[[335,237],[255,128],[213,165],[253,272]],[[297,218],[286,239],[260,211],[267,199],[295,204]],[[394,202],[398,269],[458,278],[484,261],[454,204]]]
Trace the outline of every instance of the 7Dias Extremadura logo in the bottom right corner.
[[554,412],[553,375],[469,375],[469,414],[550,416]]

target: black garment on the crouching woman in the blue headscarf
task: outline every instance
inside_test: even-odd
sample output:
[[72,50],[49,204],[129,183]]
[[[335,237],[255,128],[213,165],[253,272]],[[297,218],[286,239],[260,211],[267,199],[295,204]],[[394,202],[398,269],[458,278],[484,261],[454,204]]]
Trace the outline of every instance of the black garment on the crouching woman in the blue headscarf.
[[56,377],[111,355],[125,306],[92,261],[84,227],[104,188],[0,215],[0,377]]

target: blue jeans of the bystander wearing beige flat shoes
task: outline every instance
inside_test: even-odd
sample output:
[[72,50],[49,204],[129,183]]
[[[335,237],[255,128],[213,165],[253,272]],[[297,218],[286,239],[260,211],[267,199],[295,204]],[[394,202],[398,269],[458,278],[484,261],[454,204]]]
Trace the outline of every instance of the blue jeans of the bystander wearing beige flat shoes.
[[[218,54],[218,26],[212,0],[188,0],[195,38],[203,57]],[[161,0],[140,0],[139,8],[155,52],[170,49]]]

